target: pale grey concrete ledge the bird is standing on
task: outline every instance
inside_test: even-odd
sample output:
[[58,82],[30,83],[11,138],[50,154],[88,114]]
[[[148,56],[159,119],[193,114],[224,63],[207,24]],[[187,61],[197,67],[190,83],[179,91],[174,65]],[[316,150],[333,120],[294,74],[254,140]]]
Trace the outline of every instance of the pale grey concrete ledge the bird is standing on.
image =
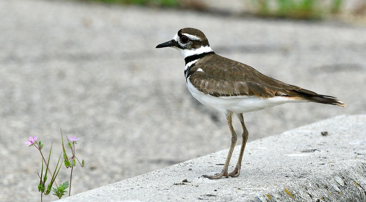
[[342,115],[250,142],[239,177],[200,177],[219,172],[226,155],[219,151],[62,201],[366,201],[366,115]]

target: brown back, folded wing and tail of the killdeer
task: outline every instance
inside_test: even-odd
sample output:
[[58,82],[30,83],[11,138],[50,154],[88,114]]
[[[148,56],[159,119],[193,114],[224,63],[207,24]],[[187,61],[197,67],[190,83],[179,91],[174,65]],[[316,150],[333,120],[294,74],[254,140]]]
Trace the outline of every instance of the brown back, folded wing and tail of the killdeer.
[[[202,71],[197,71],[201,68]],[[332,96],[319,95],[313,91],[286,84],[265,76],[259,71],[243,63],[213,54],[198,60],[191,71],[190,82],[199,91],[219,96],[289,96],[293,99],[342,105]],[[342,105],[343,106],[343,105]]]

